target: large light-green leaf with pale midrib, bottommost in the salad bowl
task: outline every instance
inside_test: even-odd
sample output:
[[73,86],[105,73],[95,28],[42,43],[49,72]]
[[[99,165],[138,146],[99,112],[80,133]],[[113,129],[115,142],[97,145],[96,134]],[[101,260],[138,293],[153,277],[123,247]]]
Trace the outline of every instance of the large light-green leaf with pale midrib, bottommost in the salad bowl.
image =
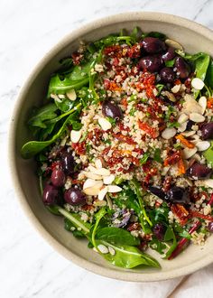
[[112,245],[106,241],[97,240],[97,246],[103,244],[106,247],[112,247],[115,255],[102,254],[108,262],[118,267],[131,269],[138,265],[148,265],[160,268],[160,264],[152,256],[142,253],[138,248],[131,246]]

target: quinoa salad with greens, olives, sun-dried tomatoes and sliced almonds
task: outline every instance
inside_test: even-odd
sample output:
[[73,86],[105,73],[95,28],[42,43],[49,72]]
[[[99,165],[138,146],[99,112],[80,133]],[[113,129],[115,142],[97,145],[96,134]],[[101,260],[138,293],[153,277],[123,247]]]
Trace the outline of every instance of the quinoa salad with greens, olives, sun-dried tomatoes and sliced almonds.
[[41,200],[116,266],[213,232],[213,61],[183,47],[140,28],[80,42],[28,119]]

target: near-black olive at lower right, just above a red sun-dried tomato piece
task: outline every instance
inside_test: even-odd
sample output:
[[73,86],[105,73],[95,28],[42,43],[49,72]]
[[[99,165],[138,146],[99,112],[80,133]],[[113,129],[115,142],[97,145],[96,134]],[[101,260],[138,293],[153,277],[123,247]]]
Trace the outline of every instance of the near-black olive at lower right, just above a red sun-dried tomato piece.
[[167,191],[167,198],[171,200],[172,203],[188,204],[190,202],[188,191],[179,186],[171,187],[171,189]]

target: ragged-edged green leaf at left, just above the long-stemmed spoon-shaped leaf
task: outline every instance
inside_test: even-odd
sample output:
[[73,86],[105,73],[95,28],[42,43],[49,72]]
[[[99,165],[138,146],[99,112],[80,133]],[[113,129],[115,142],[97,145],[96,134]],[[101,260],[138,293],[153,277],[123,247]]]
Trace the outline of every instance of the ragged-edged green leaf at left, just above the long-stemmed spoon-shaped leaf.
[[57,116],[55,113],[58,107],[54,104],[48,104],[33,111],[33,115],[28,121],[29,126],[46,128],[46,120],[53,119]]

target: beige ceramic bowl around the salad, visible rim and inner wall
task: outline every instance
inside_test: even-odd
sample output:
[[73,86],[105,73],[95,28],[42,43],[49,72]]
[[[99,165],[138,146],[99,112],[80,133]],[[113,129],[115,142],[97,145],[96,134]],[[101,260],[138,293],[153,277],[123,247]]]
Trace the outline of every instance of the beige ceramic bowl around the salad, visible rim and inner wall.
[[33,160],[23,160],[20,148],[31,138],[26,119],[32,106],[38,106],[44,98],[50,75],[59,68],[61,58],[77,50],[79,41],[95,41],[108,33],[119,32],[122,28],[131,30],[139,26],[144,32],[165,33],[184,45],[186,51],[205,51],[213,56],[213,33],[198,23],[178,16],[158,13],[117,14],[89,23],[70,33],[59,42],[32,71],[17,99],[10,129],[9,159],[21,206],[33,226],[39,230],[52,247],[81,267],[97,275],[134,282],[160,281],[189,275],[213,261],[213,237],[209,237],[204,247],[190,246],[172,261],[157,257],[162,269],[125,270],[115,267],[87,247],[86,242],[73,237],[63,228],[60,217],[52,215],[42,204],[39,182],[35,175]]

